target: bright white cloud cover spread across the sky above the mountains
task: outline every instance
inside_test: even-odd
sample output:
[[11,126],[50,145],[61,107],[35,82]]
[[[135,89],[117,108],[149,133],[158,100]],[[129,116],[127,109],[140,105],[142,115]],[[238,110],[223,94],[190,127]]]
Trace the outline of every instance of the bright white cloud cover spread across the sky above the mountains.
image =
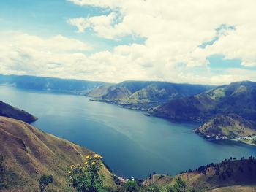
[[[146,41],[88,55],[86,50],[92,48],[76,39],[1,32],[0,72],[107,82],[222,84],[255,80],[252,70],[229,69],[214,74],[207,60],[209,55],[222,54],[226,59],[240,58],[244,66],[256,66],[255,0],[69,1],[108,10],[107,15],[69,18],[67,22],[79,33],[90,29],[105,39],[116,41],[132,35]],[[220,28],[223,25],[235,29]],[[206,47],[200,46],[213,39]]]

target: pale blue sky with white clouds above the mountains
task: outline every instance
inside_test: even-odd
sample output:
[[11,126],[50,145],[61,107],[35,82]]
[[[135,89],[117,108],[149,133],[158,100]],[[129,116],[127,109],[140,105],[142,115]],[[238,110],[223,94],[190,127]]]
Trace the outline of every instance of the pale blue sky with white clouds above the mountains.
[[256,81],[255,0],[2,0],[0,73]]

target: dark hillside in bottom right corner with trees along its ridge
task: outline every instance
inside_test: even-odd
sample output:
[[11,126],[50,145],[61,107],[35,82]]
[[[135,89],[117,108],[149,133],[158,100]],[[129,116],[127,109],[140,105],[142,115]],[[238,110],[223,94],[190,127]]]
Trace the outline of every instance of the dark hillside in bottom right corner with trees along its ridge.
[[144,184],[150,185],[151,188],[169,188],[178,177],[183,180],[184,186],[190,186],[187,191],[256,191],[256,160],[252,156],[241,160],[225,159],[218,164],[200,166],[194,171],[189,169],[174,178],[161,174],[153,175],[145,180]]

